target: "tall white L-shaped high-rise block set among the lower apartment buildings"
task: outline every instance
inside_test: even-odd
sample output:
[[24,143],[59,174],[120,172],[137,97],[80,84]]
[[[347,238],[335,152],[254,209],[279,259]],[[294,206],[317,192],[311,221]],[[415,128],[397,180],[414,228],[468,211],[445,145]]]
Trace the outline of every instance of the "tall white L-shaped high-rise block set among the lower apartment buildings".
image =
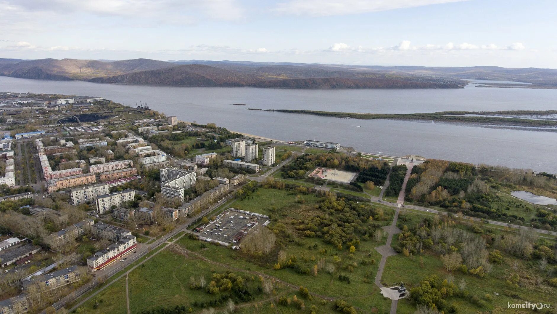
[[197,182],[197,174],[193,170],[165,167],[160,171],[160,192],[164,201],[169,204],[183,204],[184,189],[189,189]]

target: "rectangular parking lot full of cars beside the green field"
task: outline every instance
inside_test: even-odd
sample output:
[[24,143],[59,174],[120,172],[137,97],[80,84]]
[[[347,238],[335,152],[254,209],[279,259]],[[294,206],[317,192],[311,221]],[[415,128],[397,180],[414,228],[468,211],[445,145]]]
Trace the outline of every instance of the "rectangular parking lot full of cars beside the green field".
[[258,230],[268,223],[268,217],[265,215],[227,209],[196,231],[203,240],[218,241],[224,245],[238,245],[248,232]]

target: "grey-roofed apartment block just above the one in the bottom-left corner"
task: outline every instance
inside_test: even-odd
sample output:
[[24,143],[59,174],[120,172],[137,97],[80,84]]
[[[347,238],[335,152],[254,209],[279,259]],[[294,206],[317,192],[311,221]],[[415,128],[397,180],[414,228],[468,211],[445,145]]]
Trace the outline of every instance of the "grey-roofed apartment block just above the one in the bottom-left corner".
[[33,277],[30,281],[23,281],[23,288],[28,293],[42,293],[52,289],[66,286],[67,284],[80,281],[81,276],[77,271],[77,265],[56,270],[55,272]]

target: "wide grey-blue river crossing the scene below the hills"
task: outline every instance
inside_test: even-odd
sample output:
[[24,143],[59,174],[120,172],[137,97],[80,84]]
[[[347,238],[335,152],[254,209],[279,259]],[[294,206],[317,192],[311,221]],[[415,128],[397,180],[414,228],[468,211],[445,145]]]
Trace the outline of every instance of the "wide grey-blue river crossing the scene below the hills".
[[[557,132],[473,125],[355,120],[245,110],[308,109],[361,113],[447,110],[557,110],[557,89],[309,90],[180,87],[46,81],[0,76],[0,91],[102,96],[134,106],[140,101],[185,121],[214,122],[232,131],[294,141],[339,142],[358,151],[417,154],[557,173]],[[234,103],[247,106],[234,106]],[[355,127],[360,125],[361,127]],[[554,130],[555,131],[555,130]]]

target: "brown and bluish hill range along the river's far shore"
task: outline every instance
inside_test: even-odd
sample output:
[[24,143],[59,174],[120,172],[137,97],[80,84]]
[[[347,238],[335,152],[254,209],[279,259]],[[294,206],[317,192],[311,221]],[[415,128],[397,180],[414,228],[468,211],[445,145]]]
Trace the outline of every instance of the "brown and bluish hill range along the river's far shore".
[[[210,60],[0,59],[0,75],[98,83],[268,88],[461,88],[463,79],[557,86],[557,70],[497,66],[353,66]],[[548,87],[544,87],[548,86]]]

